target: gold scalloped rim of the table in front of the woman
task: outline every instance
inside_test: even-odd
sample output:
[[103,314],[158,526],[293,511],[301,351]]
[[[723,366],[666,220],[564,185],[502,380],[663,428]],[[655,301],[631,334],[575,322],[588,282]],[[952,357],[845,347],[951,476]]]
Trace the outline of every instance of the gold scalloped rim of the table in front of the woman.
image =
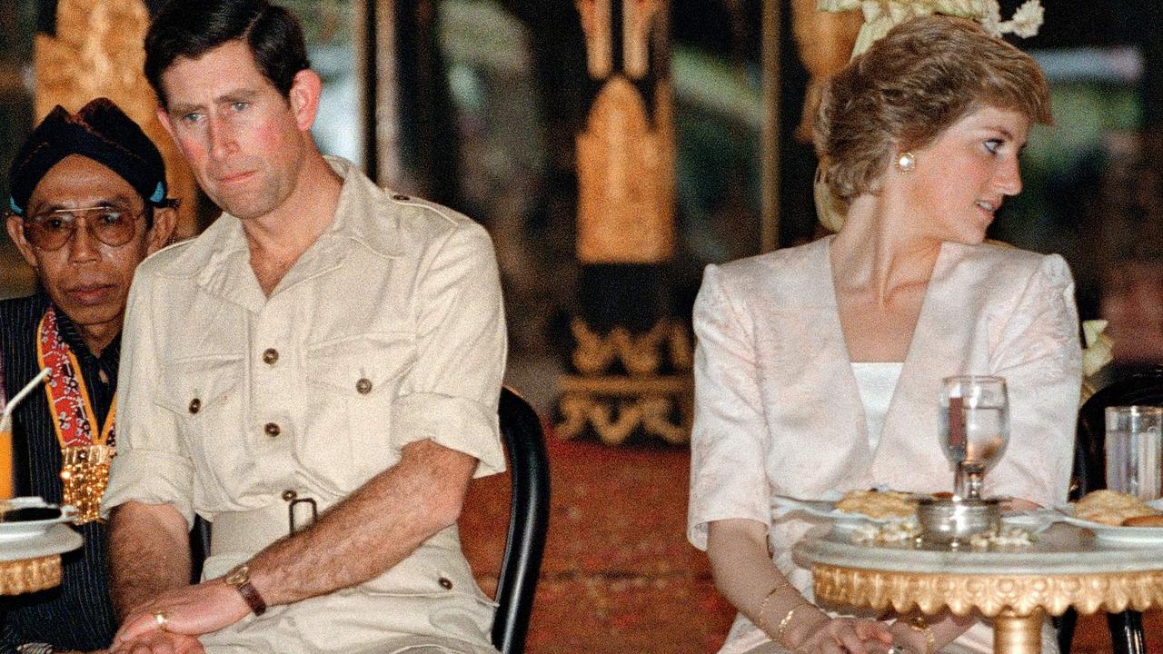
[[[1061,616],[1101,609],[1119,613],[1146,611],[1163,603],[1163,571],[1091,575],[934,575],[858,570],[815,564],[815,595],[821,599],[906,613],[913,607],[936,613],[944,607],[958,616],[979,611],[987,617],[1027,617],[1046,611]],[[1006,613],[1009,612],[1009,613]]]

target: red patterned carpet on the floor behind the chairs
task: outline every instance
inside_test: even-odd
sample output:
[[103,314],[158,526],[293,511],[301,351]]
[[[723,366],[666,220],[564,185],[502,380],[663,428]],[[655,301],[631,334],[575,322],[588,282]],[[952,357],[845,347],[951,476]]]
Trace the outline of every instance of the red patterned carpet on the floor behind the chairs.
[[[706,556],[687,545],[688,454],[550,439],[552,510],[529,630],[530,654],[712,653],[734,611]],[[461,520],[469,561],[492,593],[508,525],[508,477],[475,482]],[[1163,613],[1147,616],[1163,652]],[[1106,620],[1084,618],[1075,652],[1111,652]]]

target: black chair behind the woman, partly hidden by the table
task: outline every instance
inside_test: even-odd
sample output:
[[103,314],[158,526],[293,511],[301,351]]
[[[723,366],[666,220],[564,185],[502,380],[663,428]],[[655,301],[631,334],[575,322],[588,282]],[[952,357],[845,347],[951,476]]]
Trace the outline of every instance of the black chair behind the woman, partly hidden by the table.
[[[1163,405],[1163,367],[1133,372],[1096,392],[1078,410],[1075,465],[1070,477],[1070,499],[1106,488],[1106,407]],[[1110,613],[1111,644],[1115,654],[1146,654],[1143,617],[1139,611]],[[1058,619],[1058,649],[1066,654],[1075,639],[1078,614],[1073,609]]]

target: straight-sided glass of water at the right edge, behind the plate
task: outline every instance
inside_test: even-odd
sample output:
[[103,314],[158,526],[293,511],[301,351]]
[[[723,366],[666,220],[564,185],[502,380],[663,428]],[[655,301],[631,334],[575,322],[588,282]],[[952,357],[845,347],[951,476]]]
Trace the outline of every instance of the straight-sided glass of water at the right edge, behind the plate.
[[1106,488],[1144,502],[1163,495],[1163,408],[1106,407]]

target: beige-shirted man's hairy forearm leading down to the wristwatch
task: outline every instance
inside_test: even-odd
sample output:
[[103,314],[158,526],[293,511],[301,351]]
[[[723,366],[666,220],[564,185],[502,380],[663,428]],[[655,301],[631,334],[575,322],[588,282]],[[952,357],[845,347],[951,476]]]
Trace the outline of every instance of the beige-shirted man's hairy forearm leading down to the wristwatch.
[[379,576],[456,523],[475,467],[466,454],[409,443],[399,464],[258,553],[250,561],[255,588],[267,604],[290,604]]

